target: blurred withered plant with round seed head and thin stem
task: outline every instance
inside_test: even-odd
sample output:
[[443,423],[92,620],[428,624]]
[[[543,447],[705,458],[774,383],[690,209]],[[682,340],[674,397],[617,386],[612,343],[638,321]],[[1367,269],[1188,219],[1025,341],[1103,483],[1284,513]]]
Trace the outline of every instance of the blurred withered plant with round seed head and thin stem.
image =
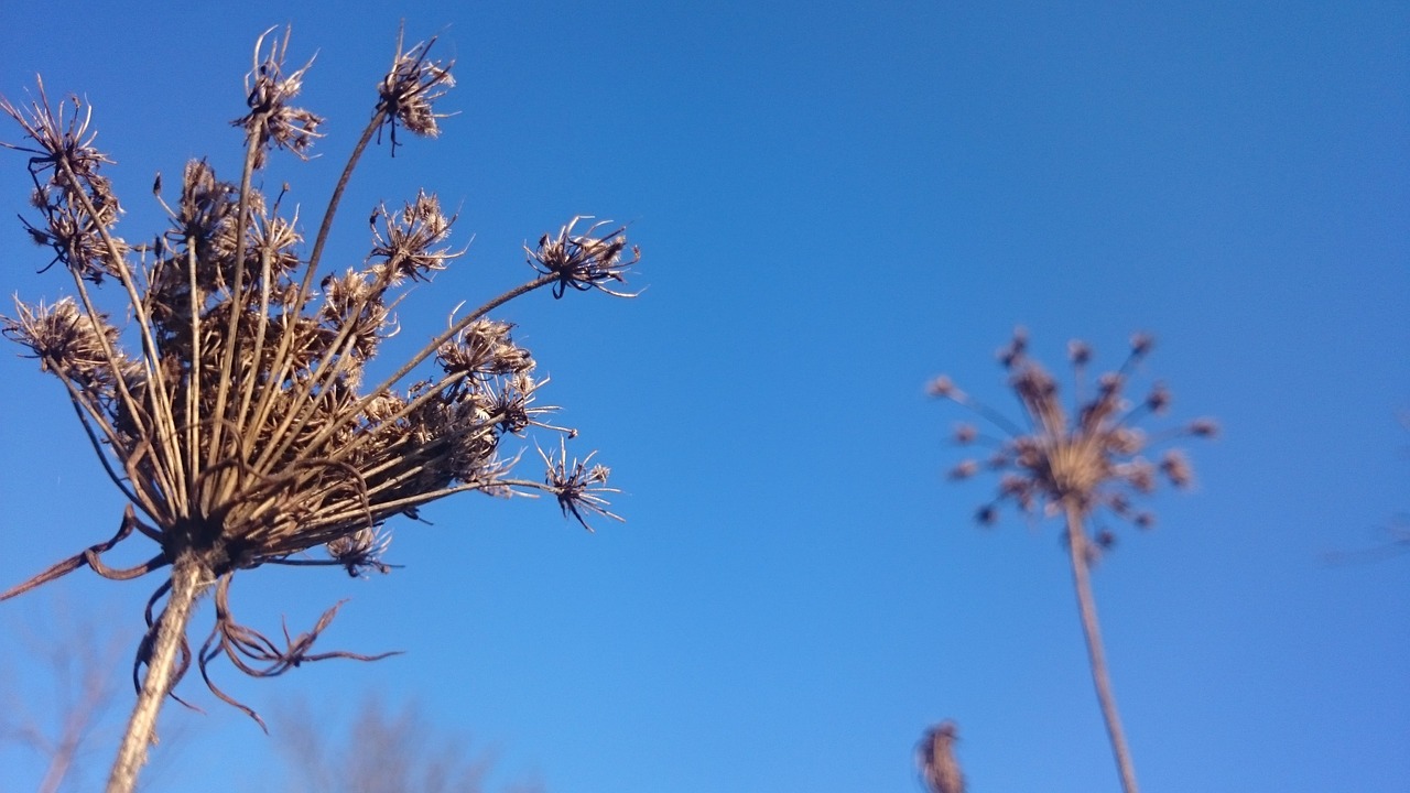
[[957,443],[984,446],[988,456],[963,460],[950,470],[952,480],[964,480],[986,468],[1000,474],[998,495],[980,507],[979,522],[993,525],[1000,508],[1011,504],[1025,515],[1060,516],[1066,523],[1067,556],[1091,677],[1127,793],[1136,793],[1135,768],[1111,693],[1089,576],[1097,556],[1115,542],[1115,535],[1100,521],[1111,515],[1139,528],[1153,526],[1155,516],[1136,509],[1135,501],[1155,492],[1162,477],[1177,488],[1189,487],[1193,470],[1189,459],[1176,449],[1166,449],[1158,461],[1148,460],[1145,454],[1180,436],[1211,437],[1217,433],[1210,419],[1197,419],[1155,435],[1136,426],[1148,415],[1165,413],[1170,405],[1170,391],[1162,382],[1152,385],[1138,402],[1124,395],[1131,374],[1151,353],[1152,344],[1151,336],[1132,336],[1131,351],[1121,367],[1097,377],[1093,384],[1087,381],[1091,347],[1072,341],[1069,358],[1076,404],[1069,413],[1059,396],[1058,381],[1028,356],[1026,333],[1015,330],[998,358],[1008,373],[1010,388],[1024,408],[1022,423],[960,391],[949,377],[938,377],[929,385],[932,396],[963,405],[1001,433],[986,435],[970,423],[960,423],[955,430]]

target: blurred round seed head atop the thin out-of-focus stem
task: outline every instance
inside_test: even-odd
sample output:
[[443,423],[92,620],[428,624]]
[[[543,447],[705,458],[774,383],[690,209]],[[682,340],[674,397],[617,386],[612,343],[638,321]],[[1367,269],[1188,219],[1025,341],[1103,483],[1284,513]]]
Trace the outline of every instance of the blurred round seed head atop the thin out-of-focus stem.
[[[1121,367],[1089,384],[1086,367],[1091,360],[1091,347],[1084,341],[1072,341],[1069,360],[1077,404],[1069,413],[1058,381],[1028,356],[1024,329],[1015,330],[1012,341],[998,351],[998,360],[1008,373],[1010,388],[1024,406],[1029,430],[1019,429],[1003,413],[960,391],[949,377],[940,375],[929,384],[932,396],[964,405],[1005,435],[988,437],[967,423],[955,430],[957,443],[988,446],[990,454],[984,460],[962,460],[950,470],[950,478],[969,478],[984,468],[1000,474],[997,497],[979,509],[981,523],[995,522],[1000,507],[1011,502],[1022,512],[1042,509],[1049,515],[1066,507],[1076,507],[1083,515],[1105,508],[1138,526],[1153,525],[1151,512],[1135,509],[1135,497],[1153,492],[1162,477],[1175,487],[1189,487],[1193,471],[1176,449],[1163,452],[1155,463],[1145,453],[1177,436],[1210,437],[1217,426],[1210,419],[1198,419],[1155,436],[1135,426],[1145,415],[1165,413],[1170,406],[1170,391],[1162,382],[1152,385],[1138,402],[1124,395],[1131,374],[1152,346],[1151,336],[1135,334]],[[1097,536],[1098,545],[1110,545],[1110,532]]]

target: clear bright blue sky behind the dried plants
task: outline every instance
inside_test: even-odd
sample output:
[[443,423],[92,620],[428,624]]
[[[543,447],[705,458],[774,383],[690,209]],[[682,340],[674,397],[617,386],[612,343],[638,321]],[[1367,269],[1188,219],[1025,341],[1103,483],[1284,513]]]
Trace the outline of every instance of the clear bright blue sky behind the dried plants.
[[[210,155],[233,174],[265,27],[317,52],[323,158],[271,175],[306,219],[399,17],[440,32],[460,114],[374,152],[336,229],[351,264],[376,200],[426,186],[460,207],[470,254],[403,305],[407,344],[523,278],[519,246],[572,214],[630,222],[644,251],[637,301],[539,293],[501,313],[629,522],[588,535],[548,502],[465,497],[398,526],[391,576],[243,574],[255,625],[302,629],[351,598],[327,646],[406,655],[220,680],[262,711],[306,697],[334,728],[365,691],[419,700],[498,749],[496,779],[553,793],[916,790],[912,745],[946,717],[974,793],[1114,790],[1056,529],[973,525],[991,483],[943,480],[962,416],[924,384],[946,371],[1007,406],[993,350],[1015,325],[1041,357],[1083,337],[1098,363],[1144,329],[1144,375],[1225,430],[1190,449],[1198,488],[1158,497],[1159,528],[1121,531],[1096,573],[1144,789],[1410,789],[1410,555],[1323,559],[1410,511],[1410,8],[677,6],[6,14],[0,93],[42,72],[92,100],[134,238],[158,227],[155,171]],[[25,200],[23,157],[0,155],[0,216]],[[0,250],[0,291],[66,289],[34,272],[17,222]],[[59,384],[16,351],[6,586],[123,509]],[[0,604],[0,624],[63,600],[135,629],[155,586],[76,574]],[[151,790],[278,790],[279,738],[195,676],[182,690],[209,715],[168,710],[182,738]]]

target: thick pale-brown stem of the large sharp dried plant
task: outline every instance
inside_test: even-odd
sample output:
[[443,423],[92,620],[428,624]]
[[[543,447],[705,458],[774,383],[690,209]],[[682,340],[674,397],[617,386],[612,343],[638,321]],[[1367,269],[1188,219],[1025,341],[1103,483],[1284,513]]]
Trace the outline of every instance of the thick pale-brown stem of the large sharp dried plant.
[[186,624],[200,593],[210,587],[204,567],[186,553],[172,564],[172,588],[166,608],[157,618],[152,650],[147,659],[147,676],[137,694],[137,706],[127,721],[123,745],[107,777],[107,793],[131,793],[137,787],[137,773],[147,763],[147,748],[157,739],[157,714],[171,693],[176,659],[180,655]]

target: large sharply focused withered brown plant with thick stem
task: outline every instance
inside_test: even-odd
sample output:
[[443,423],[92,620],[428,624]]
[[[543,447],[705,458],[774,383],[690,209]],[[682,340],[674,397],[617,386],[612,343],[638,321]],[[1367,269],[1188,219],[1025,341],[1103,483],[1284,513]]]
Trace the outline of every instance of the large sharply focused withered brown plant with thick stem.
[[[94,145],[92,109],[78,97],[52,104],[0,102],[28,138],[8,148],[30,154],[37,222],[34,241],[72,277],[72,293],[17,305],[4,334],[28,347],[59,378],[113,484],[128,500],[117,533],[24,581],[0,600],[89,567],[117,580],[157,570],[168,577],[147,608],[147,634],[134,662],[138,700],[109,782],[130,790],[154,739],[157,713],[192,667],[221,700],[210,663],[226,656],[258,677],[329,658],[313,652],[333,619],[330,608],[306,634],[275,641],[238,624],[230,610],[237,571],[262,564],[330,564],[350,574],[386,571],[386,522],[417,516],[455,492],[551,494],[564,515],[618,519],[603,494],[608,468],[543,453],[543,481],[515,478],[509,437],[548,428],[536,404],[544,378],[512,325],[491,319],[503,303],[551,286],[554,296],[599,289],[612,295],[637,261],[625,230],[574,217],[525,247],[532,279],[479,308],[457,313],[444,332],[379,382],[364,382],[368,361],[396,330],[406,285],[429,281],[458,251],[454,217],[426,192],[402,209],[371,214],[371,251],[360,267],[319,278],[344,189],[368,144],[398,130],[434,137],[434,103],[453,80],[451,63],[431,58],[434,40],[403,47],[376,86],[372,117],[333,189],[313,244],[288,210],[288,188],[261,189],[271,150],[306,157],[323,119],[295,107],[309,65],[286,66],[289,37],[259,38],[245,79],[248,113],[243,172],[221,181],[204,161],[185,167],[178,195],[154,192],[169,227],[134,244],[118,236],[121,214]],[[100,306],[100,286],[120,292]],[[125,301],[123,301],[125,298]],[[522,452],[522,449],[519,450]],[[157,543],[147,562],[114,569],[103,555],[142,535]],[[313,552],[310,556],[309,552]],[[199,649],[188,642],[192,605],[214,593],[216,622]],[[164,601],[165,598],[165,601]],[[154,617],[161,605],[159,615]],[[145,667],[145,674],[142,670]],[[262,722],[261,722],[262,724]]]

